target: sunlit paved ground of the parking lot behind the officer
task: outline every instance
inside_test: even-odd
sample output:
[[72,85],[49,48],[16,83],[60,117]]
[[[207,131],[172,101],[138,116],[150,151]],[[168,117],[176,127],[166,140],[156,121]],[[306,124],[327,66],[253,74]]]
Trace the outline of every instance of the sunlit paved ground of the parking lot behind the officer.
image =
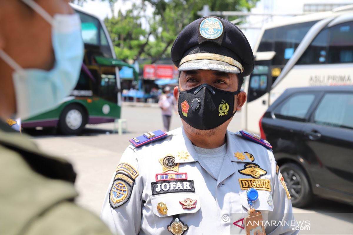
[[[122,135],[112,133],[113,123],[88,125],[82,136],[55,135],[53,130],[31,132],[34,141],[43,150],[65,157],[73,163],[78,173],[76,188],[80,196],[77,202],[98,215],[106,190],[110,187],[109,181],[115,172],[115,167],[121,154],[128,146],[128,139],[147,131],[162,128],[161,111],[156,106],[132,107],[124,105],[122,110],[122,118],[127,119],[127,132]],[[171,129],[179,126],[181,126],[180,118],[178,115],[174,115]],[[234,116],[228,129],[231,131],[240,130],[239,113]],[[295,208],[294,211],[296,213],[352,213],[353,207],[318,199],[309,208],[305,210]],[[339,232],[338,228],[340,225],[349,224],[351,219],[348,214],[322,216],[322,229],[323,231],[333,229],[331,234],[343,234],[343,232]]]

